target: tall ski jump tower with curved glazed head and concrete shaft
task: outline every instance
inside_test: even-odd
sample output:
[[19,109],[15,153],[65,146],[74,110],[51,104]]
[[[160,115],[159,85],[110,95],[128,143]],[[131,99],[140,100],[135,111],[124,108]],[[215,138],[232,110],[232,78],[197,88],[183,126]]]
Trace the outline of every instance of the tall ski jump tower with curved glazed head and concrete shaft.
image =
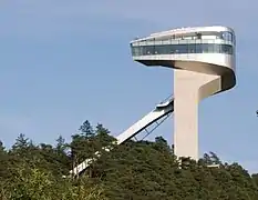
[[198,159],[198,103],[236,84],[236,38],[227,27],[182,28],[131,42],[133,59],[174,69],[174,146]]

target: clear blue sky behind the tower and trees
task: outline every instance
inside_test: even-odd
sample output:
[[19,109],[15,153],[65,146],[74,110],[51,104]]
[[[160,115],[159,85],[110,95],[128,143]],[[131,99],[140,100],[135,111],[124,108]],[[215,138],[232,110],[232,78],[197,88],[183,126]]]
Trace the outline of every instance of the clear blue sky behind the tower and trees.
[[[258,171],[255,0],[12,0],[0,3],[0,139],[65,139],[89,119],[114,136],[173,92],[173,71],[134,62],[136,36],[224,24],[237,34],[237,87],[199,107],[200,154]],[[173,119],[154,136],[172,142]]]

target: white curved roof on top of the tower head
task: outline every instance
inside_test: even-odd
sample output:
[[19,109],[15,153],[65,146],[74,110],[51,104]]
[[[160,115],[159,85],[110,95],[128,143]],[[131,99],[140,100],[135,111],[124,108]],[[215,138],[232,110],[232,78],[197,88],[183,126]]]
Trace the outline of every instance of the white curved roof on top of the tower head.
[[221,31],[230,31],[230,32],[234,33],[234,30],[231,28],[229,28],[229,27],[223,27],[223,26],[186,27],[186,28],[178,28],[178,29],[172,29],[172,30],[168,30],[168,31],[162,31],[162,32],[152,33],[149,37],[136,39],[136,40],[133,40],[132,42],[141,41],[141,40],[147,40],[147,39],[153,39],[153,38],[161,38],[161,37],[166,37],[166,36],[173,36],[173,34],[182,34],[182,33],[192,33],[192,32],[221,32]]

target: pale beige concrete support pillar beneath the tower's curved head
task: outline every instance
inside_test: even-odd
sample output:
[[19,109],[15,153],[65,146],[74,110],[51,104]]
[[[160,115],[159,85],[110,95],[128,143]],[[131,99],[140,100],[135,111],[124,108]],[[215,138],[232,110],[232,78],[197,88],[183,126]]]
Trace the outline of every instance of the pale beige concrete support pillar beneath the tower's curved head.
[[174,70],[174,144],[177,157],[198,160],[198,103],[220,90],[220,76]]

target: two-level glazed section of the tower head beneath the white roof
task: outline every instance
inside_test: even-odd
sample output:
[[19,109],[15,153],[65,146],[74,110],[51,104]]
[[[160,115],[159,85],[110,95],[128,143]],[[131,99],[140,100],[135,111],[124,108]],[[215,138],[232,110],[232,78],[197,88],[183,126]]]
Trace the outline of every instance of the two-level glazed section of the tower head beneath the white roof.
[[228,31],[211,36],[195,33],[176,37],[135,40],[131,43],[132,54],[133,57],[182,53],[235,54],[235,36]]

